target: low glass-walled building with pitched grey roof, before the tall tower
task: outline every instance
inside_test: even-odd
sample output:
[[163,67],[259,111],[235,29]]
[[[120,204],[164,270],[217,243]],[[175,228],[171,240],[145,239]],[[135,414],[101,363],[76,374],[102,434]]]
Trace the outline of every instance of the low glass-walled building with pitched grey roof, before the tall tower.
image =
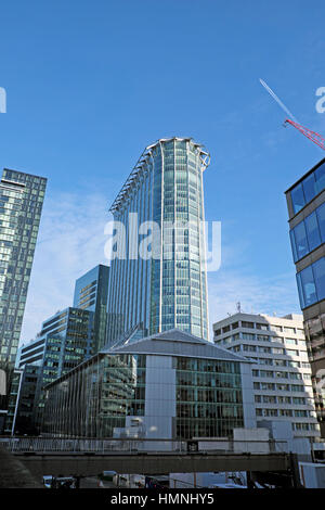
[[[172,330],[105,349],[46,387],[43,433],[225,437],[256,426],[251,362]],[[133,429],[134,430],[134,429]]]

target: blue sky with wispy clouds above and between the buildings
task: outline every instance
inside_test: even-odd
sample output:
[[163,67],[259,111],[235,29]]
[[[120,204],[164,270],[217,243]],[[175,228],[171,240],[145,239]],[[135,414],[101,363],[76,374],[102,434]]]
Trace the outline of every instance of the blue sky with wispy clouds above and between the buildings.
[[323,156],[303,125],[324,76],[322,2],[30,0],[1,5],[0,165],[49,178],[22,339],[72,303],[74,281],[105,262],[108,205],[145,145],[193,137],[211,153],[209,220],[222,266],[210,318],[298,311],[284,191]]

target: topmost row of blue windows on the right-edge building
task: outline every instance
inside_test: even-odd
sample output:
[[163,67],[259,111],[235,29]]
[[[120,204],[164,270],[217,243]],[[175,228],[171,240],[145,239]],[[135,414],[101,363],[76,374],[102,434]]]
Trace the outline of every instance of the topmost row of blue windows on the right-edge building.
[[297,214],[325,188],[325,163],[308,175],[290,191],[294,213]]

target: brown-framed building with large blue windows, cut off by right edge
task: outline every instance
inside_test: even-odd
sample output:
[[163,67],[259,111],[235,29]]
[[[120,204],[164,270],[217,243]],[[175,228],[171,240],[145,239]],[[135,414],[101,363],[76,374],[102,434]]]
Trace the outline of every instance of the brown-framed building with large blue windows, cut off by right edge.
[[313,388],[325,437],[325,158],[286,191]]

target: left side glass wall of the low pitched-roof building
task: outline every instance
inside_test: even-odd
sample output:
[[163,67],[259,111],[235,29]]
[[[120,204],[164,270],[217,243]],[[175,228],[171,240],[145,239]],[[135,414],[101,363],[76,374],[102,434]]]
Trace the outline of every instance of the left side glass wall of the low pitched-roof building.
[[98,355],[48,390],[43,431],[113,437],[127,416],[144,416],[145,356]]

